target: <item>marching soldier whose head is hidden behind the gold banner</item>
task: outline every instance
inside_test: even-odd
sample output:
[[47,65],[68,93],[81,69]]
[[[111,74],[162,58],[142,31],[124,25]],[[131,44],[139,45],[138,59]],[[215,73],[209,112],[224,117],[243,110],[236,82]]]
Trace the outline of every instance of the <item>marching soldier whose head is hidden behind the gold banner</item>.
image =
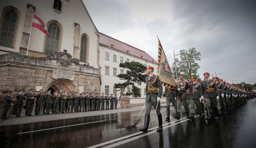
[[165,118],[166,120],[170,120],[170,103],[173,105],[175,108],[175,112],[177,111],[176,109],[176,101],[175,101],[175,93],[174,93],[174,88],[165,88],[166,90],[166,112],[167,112],[167,117]]

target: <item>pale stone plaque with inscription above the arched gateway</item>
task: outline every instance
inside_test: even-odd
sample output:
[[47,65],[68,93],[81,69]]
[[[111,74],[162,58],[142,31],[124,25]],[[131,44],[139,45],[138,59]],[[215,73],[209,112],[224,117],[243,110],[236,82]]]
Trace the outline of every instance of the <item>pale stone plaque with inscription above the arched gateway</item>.
[[69,79],[70,81],[73,81],[75,79],[75,71],[54,68],[52,71],[52,78],[53,79]]

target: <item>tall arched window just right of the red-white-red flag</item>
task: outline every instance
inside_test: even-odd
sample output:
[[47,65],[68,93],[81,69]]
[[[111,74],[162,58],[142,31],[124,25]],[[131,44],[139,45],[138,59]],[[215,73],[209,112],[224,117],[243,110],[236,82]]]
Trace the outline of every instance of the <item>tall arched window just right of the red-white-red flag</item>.
[[60,51],[61,27],[57,22],[51,22],[48,25],[48,33],[50,35],[46,35],[45,53],[50,55],[57,54]]

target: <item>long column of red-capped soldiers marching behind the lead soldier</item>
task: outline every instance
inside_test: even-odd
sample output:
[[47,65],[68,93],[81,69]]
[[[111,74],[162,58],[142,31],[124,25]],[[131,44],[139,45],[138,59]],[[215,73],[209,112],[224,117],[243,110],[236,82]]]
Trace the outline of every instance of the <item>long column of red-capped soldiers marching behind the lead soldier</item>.
[[202,119],[202,113],[206,109],[206,120],[211,121],[212,113],[215,120],[219,120],[219,115],[241,106],[246,99],[256,97],[255,93],[231,85],[216,76],[209,79],[209,76],[208,72],[204,73],[204,80],[201,82],[191,76],[185,84],[182,78],[178,78],[176,89],[166,88],[166,120],[170,120],[170,103],[176,110],[176,119],[180,119],[181,104],[183,104],[187,118],[193,120],[194,114],[198,113],[199,119]]

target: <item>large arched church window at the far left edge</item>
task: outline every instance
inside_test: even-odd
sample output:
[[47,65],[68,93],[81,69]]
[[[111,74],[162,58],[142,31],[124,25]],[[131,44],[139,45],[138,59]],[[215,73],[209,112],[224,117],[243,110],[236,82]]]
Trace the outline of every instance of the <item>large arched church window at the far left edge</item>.
[[2,16],[0,45],[13,47],[18,22],[18,12],[14,8],[7,8]]

